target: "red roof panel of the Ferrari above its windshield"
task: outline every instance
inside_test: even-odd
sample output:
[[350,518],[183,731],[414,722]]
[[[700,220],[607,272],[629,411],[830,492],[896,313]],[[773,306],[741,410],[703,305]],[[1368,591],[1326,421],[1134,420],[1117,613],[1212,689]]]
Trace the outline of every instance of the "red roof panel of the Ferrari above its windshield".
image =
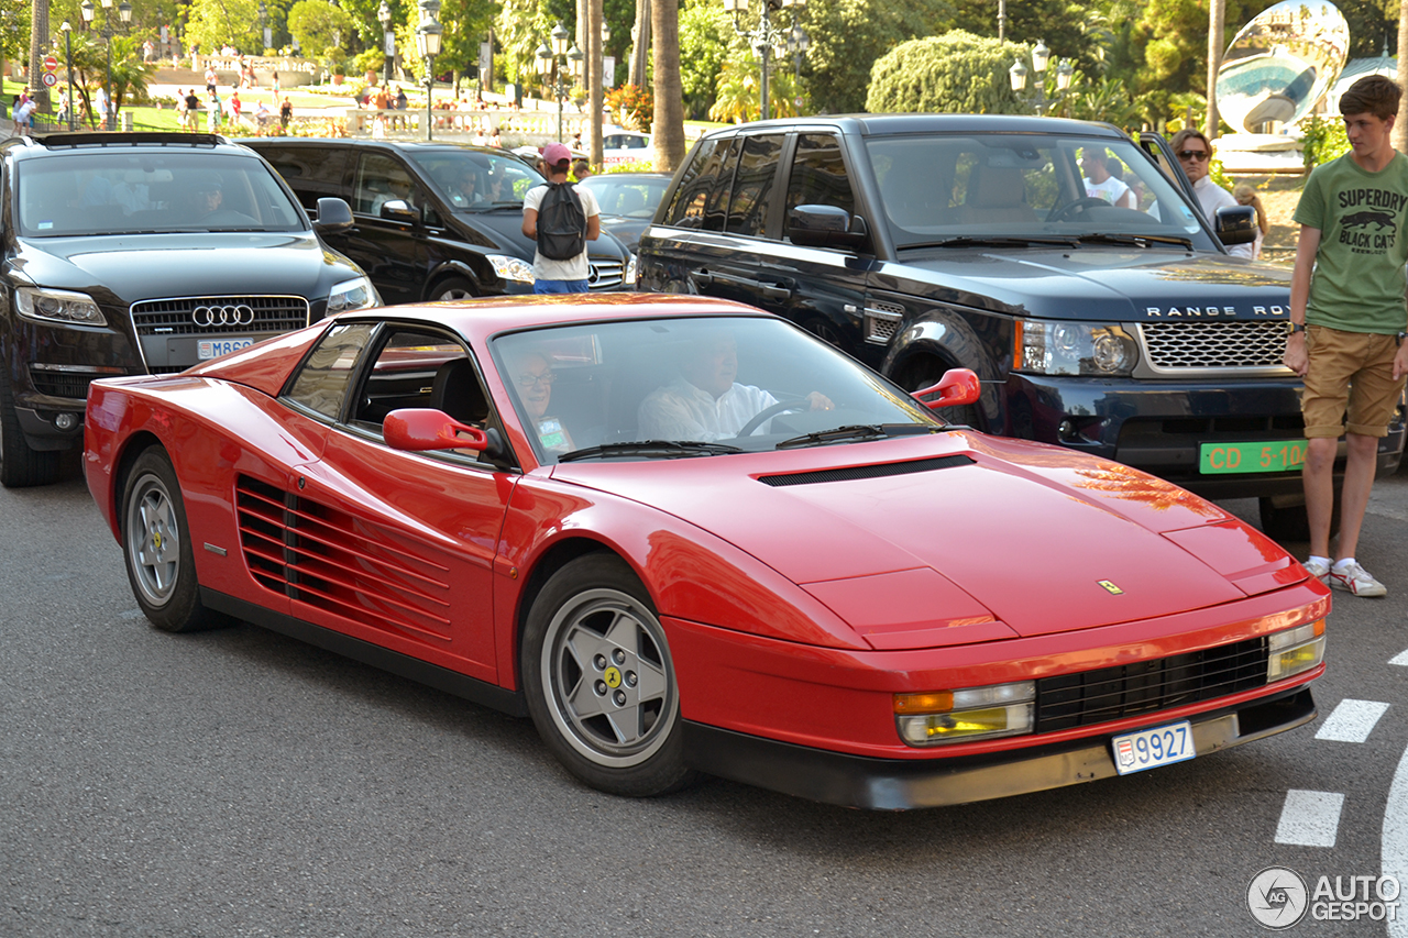
[[501,296],[451,303],[414,303],[382,310],[342,313],[341,320],[384,318],[424,323],[432,320],[459,331],[474,342],[498,332],[532,330],[569,323],[608,323],[635,318],[683,318],[696,315],[750,315],[777,318],[743,303],[704,296],[658,293],[572,293],[558,296]]

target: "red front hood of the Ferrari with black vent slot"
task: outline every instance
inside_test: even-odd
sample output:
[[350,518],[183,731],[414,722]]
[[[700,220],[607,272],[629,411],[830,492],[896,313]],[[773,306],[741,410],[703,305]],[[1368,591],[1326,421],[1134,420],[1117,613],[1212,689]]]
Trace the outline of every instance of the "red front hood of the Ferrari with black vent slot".
[[[890,628],[918,630],[914,620],[926,614],[981,624],[990,613],[1021,635],[1039,635],[1215,606],[1304,579],[1276,544],[1176,486],[980,434],[566,463],[553,477],[684,518],[852,625],[898,615]],[[890,604],[901,608],[883,611]]]

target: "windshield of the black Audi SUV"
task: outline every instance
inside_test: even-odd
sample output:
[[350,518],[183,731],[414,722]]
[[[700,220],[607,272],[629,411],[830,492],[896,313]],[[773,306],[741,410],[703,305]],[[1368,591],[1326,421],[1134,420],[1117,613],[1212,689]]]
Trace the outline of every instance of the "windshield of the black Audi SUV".
[[63,152],[15,168],[31,238],[176,231],[307,231],[263,161],[211,152]]

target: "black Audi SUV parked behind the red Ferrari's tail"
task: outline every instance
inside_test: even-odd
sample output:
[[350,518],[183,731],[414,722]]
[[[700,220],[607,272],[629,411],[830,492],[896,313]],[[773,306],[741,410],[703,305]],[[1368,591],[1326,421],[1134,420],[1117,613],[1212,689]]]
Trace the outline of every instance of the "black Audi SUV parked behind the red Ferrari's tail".
[[168,375],[377,306],[372,282],[258,154],[213,134],[0,144],[0,484],[52,482],[89,383]]

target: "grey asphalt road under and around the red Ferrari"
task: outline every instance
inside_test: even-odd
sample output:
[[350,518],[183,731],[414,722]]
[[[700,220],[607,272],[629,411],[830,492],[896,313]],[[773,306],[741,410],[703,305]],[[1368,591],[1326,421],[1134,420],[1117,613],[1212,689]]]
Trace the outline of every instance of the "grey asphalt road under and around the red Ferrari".
[[75,466],[0,490],[3,938],[1259,935],[1269,866],[1408,880],[1408,473],[1360,556],[1391,594],[1336,594],[1309,727],[874,814],[717,780],[608,797],[525,721],[249,625],[158,632]]

